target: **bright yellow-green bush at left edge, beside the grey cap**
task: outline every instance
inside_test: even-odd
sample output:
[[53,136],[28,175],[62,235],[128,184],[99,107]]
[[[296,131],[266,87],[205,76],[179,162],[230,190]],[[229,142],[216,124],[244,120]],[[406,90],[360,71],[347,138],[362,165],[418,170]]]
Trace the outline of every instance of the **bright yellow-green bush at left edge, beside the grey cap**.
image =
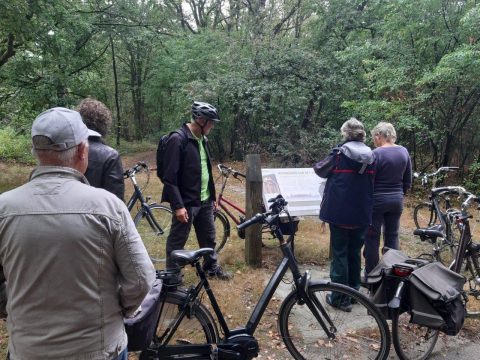
[[34,163],[30,136],[18,134],[12,127],[0,129],[0,160]]

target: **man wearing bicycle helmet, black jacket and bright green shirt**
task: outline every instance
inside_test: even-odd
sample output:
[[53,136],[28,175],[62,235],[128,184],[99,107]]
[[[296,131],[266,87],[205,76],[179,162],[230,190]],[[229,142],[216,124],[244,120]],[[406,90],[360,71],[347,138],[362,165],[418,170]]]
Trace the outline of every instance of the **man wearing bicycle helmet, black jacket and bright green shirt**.
[[[195,101],[191,122],[183,124],[166,142],[162,201],[169,202],[174,212],[167,238],[167,268],[177,267],[170,254],[173,250],[184,248],[192,225],[199,246],[215,249],[215,185],[206,136],[219,121],[220,116],[214,106]],[[210,277],[221,280],[231,278],[218,264],[216,253],[205,257],[203,268]]]

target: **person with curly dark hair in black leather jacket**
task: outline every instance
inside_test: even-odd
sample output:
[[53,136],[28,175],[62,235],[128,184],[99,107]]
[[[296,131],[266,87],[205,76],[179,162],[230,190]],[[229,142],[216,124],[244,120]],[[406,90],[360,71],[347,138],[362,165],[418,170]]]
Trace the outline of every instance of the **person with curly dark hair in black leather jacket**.
[[77,111],[85,125],[98,133],[98,136],[88,138],[90,150],[85,177],[90,185],[110,191],[123,201],[125,183],[122,161],[118,151],[104,141],[112,124],[112,113],[104,103],[92,98],[83,99]]

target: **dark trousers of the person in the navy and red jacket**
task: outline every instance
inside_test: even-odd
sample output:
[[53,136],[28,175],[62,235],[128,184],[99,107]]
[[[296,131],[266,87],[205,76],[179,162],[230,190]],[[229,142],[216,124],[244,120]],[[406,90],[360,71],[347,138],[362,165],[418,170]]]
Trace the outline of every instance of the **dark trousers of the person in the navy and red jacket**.
[[[333,282],[360,289],[361,250],[367,228],[345,229],[330,224],[330,279]],[[333,293],[333,301],[336,301],[335,296]]]

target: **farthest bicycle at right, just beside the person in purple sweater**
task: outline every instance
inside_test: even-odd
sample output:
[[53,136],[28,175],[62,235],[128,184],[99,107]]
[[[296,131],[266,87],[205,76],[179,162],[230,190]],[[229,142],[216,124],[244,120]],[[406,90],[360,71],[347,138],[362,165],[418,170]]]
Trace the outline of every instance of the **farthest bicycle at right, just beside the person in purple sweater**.
[[[417,173],[415,172],[413,176],[415,178],[420,178],[422,186],[424,188],[428,187],[429,179],[433,179],[433,186],[435,187],[438,177],[442,173],[450,172],[458,170],[459,168],[456,166],[443,166],[438,170],[434,171],[433,173]],[[451,199],[448,197],[448,194],[444,194],[445,196],[441,196],[437,198],[437,202],[440,205],[438,209],[447,210],[450,209],[451,206]],[[415,222],[415,226],[417,229],[423,229],[427,227],[431,227],[435,224],[438,224],[437,220],[440,218],[438,211],[434,207],[433,201],[430,198],[428,202],[422,202],[415,206],[413,210],[413,221]]]

